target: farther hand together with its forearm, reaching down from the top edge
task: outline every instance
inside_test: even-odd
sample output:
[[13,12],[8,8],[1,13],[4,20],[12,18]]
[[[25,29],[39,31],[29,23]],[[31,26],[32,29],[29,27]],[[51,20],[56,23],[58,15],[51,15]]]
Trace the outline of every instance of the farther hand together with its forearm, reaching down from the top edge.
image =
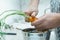
[[25,13],[29,16],[36,16],[38,13],[38,5],[39,0],[31,0]]

